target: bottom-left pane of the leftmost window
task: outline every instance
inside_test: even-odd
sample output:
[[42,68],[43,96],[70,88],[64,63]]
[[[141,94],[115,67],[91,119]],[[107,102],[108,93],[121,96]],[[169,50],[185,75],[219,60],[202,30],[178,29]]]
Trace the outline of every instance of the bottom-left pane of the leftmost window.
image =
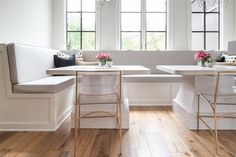
[[70,50],[80,49],[80,33],[79,32],[68,32],[67,45]]

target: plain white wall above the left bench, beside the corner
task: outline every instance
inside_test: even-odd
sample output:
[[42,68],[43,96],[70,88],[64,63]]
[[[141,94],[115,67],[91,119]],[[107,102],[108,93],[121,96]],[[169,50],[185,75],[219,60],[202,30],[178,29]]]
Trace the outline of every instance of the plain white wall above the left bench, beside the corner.
[[52,47],[52,0],[0,0],[0,43]]

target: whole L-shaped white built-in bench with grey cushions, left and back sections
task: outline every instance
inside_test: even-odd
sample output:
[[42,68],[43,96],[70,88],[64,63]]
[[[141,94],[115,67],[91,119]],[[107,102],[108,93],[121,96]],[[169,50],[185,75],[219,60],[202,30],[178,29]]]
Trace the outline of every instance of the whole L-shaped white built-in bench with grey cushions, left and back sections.
[[[0,44],[0,130],[55,130],[70,115],[73,77],[46,74],[46,69],[54,67],[53,54],[57,51]],[[94,61],[99,52],[103,51],[85,51],[85,61]],[[148,75],[124,76],[130,105],[171,105],[182,78],[158,71],[156,65],[196,64],[194,51],[109,52],[115,65],[151,69]]]

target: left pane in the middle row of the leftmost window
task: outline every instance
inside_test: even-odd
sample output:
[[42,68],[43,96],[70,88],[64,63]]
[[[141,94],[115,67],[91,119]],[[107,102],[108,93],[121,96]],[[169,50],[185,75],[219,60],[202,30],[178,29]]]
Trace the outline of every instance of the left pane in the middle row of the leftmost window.
[[68,30],[80,31],[80,13],[68,13]]

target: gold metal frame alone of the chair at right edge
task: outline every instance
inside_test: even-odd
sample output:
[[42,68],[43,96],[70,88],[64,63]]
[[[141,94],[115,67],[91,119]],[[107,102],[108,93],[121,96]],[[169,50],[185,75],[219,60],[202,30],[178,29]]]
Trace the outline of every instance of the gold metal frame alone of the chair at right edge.
[[[213,96],[213,101],[209,100],[205,94],[201,92],[197,92],[197,130],[199,130],[199,121],[201,121],[207,128],[209,128],[212,135],[215,137],[215,147],[216,147],[216,154],[219,154],[219,141],[218,141],[218,126],[217,126],[217,120],[222,118],[236,118],[236,112],[229,112],[224,114],[217,114],[217,105],[236,105],[236,103],[219,103],[217,102],[218,92],[219,92],[219,85],[220,85],[220,76],[236,76],[236,72],[232,71],[218,71],[216,72],[216,84],[215,84],[215,90]],[[233,87],[232,87],[233,88]],[[233,89],[232,89],[233,90]],[[224,95],[224,96],[233,96],[232,95]],[[202,98],[208,105],[210,105],[213,115],[200,115],[200,98]],[[214,119],[214,128],[212,129],[207,122],[204,120],[204,118],[213,118]]]

